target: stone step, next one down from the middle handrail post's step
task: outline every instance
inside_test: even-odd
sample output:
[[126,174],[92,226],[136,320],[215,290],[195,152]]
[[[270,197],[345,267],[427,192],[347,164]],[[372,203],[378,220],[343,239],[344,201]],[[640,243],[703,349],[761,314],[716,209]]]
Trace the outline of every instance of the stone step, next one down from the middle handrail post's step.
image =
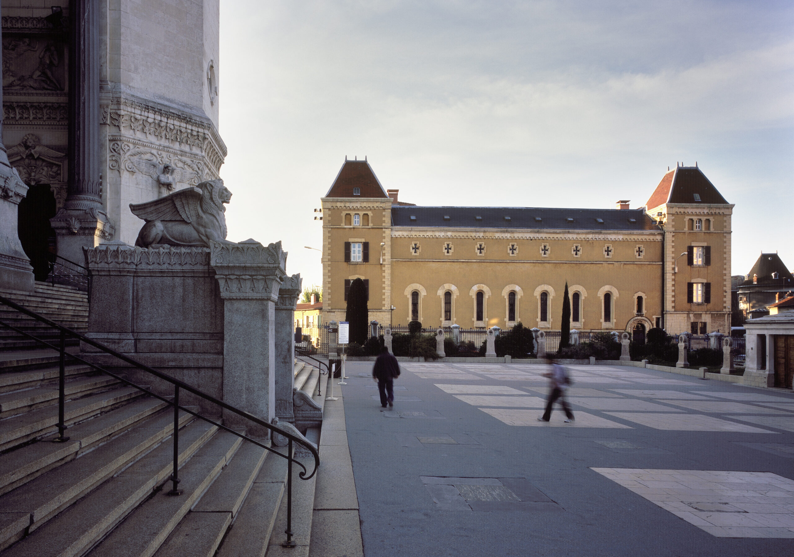
[[[270,443],[267,444],[269,446]],[[223,469],[191,512],[179,522],[155,557],[212,557],[229,525],[237,518],[237,512],[266,462],[266,457],[279,458],[253,443],[243,441],[232,462]]]

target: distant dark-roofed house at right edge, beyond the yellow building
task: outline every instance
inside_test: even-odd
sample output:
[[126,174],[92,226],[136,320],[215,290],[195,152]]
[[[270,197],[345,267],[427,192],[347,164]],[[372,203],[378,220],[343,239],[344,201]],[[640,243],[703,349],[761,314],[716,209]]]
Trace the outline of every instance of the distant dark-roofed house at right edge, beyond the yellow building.
[[738,308],[745,319],[769,315],[767,306],[794,288],[794,276],[777,253],[761,253],[758,260],[736,288]]

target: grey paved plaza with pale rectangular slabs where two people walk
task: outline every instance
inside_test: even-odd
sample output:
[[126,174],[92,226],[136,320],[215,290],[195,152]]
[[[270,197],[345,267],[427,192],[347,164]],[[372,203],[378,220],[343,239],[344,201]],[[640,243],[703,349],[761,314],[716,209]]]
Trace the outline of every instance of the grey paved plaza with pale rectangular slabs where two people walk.
[[794,394],[651,369],[401,364],[380,408],[349,362],[345,420],[366,557],[794,555]]

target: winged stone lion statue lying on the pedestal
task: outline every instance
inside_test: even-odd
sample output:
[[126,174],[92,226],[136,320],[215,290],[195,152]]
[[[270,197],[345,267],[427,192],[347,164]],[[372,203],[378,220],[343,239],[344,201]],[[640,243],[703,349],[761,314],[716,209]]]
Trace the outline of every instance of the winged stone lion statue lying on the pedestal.
[[226,241],[226,209],[232,192],[223,180],[209,180],[184,188],[148,203],[129,204],[129,210],[146,224],[138,233],[136,246],[210,247]]

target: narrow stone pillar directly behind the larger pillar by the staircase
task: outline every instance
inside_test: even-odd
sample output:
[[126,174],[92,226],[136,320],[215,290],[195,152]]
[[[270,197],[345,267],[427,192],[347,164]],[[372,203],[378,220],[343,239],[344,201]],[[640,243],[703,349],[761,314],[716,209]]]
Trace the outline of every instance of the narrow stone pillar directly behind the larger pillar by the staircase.
[[295,385],[295,304],[303,281],[299,274],[285,277],[276,302],[276,417],[295,423],[292,388]]

